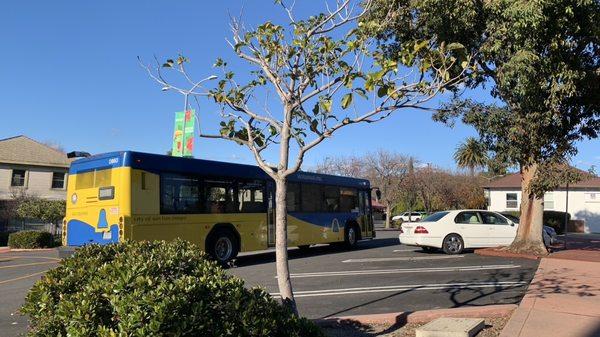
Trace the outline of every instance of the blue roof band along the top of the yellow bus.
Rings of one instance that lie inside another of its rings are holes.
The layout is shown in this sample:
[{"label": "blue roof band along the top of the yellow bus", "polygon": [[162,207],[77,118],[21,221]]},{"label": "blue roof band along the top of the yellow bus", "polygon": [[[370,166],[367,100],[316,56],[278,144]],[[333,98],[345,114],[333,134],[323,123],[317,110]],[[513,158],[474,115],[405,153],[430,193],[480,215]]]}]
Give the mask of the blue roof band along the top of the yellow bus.
[{"label": "blue roof band along the top of the yellow bus", "polygon": [[[135,151],[117,151],[93,155],[71,163],[69,174],[84,173],[98,169],[131,167],[153,173],[192,173],[207,176],[224,176],[250,179],[270,179],[258,166],[234,164],[205,159],[172,157]],[[350,177],[312,172],[297,172],[289,177],[291,182],[339,185],[370,188],[369,181]]]}]

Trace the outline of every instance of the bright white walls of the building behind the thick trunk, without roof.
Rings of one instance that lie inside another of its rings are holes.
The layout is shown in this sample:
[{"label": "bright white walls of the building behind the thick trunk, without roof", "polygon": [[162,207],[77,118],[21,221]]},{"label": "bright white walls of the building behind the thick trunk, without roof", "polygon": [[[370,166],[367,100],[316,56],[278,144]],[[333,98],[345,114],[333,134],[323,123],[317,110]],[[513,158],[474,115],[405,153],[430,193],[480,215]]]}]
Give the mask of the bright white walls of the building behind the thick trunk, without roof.
[{"label": "bright white walls of the building behind the thick trunk, without roof", "polygon": [[[518,208],[507,208],[506,194],[517,194],[517,205],[521,205],[520,190],[490,190],[489,206],[491,211],[518,211]],[[554,205],[545,203],[546,210],[566,211],[567,192],[557,190],[552,192]],[[547,198],[549,199],[549,198]],[[569,190],[568,212],[573,220],[584,220],[585,231],[588,233],[600,233],[600,190]]]}]

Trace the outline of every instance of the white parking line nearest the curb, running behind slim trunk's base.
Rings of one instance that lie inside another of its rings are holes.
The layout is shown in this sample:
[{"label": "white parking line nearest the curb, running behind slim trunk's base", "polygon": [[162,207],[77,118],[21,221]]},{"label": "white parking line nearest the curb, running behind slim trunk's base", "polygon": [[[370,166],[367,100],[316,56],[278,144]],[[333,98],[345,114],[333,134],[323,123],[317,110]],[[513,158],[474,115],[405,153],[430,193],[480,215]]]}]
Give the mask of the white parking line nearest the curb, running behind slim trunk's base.
[{"label": "white parking line nearest the curb, running behind slim trunk's base", "polygon": [[[295,291],[294,297],[315,297],[315,296],[337,296],[350,294],[368,294],[380,292],[399,292],[399,291],[420,291],[420,290],[446,290],[446,289],[479,289],[479,288],[514,288],[526,286],[526,281],[505,281],[505,282],[471,282],[471,283],[438,283],[423,285],[396,285],[382,287],[363,287],[363,288],[345,288],[345,289],[323,289]],[[279,296],[279,293],[271,293],[271,296]]]}]

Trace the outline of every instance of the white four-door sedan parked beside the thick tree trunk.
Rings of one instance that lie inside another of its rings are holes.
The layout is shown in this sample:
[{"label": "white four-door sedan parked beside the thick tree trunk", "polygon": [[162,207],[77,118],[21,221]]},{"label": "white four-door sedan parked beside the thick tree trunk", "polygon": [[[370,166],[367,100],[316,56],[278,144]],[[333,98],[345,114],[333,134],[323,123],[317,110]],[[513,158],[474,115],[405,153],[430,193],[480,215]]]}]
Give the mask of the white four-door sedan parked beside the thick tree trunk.
[{"label": "white four-door sedan parked beside the thick tree trunk", "polygon": [[454,210],[433,213],[420,222],[400,227],[400,243],[441,248],[446,254],[460,254],[465,248],[506,246],[517,234],[518,223],[484,210]]}]

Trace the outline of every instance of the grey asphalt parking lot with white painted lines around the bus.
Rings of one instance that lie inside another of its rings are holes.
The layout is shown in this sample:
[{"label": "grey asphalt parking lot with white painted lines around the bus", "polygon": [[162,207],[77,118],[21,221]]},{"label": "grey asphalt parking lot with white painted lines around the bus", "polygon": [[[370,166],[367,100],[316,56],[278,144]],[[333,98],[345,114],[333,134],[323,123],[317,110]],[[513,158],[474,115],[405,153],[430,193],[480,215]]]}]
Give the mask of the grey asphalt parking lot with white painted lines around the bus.
[{"label": "grey asphalt parking lot with white painted lines around the bus", "polygon": [[[331,246],[290,251],[294,292],[309,318],[518,303],[537,261],[425,253],[398,244],[397,232],[345,251]],[[0,254],[0,336],[26,331],[15,314],[27,290],[58,263],[55,251]],[[230,269],[249,286],[277,295],[274,252],[241,254]]]}]

